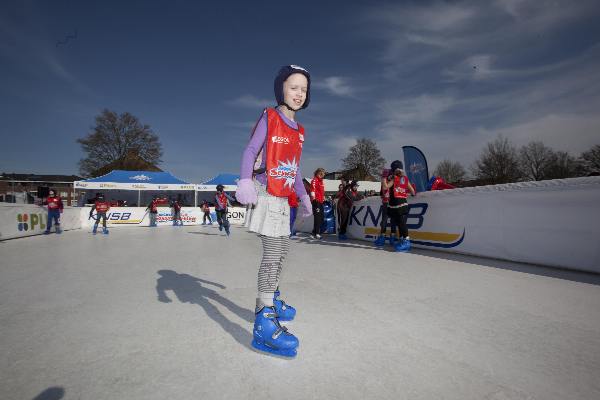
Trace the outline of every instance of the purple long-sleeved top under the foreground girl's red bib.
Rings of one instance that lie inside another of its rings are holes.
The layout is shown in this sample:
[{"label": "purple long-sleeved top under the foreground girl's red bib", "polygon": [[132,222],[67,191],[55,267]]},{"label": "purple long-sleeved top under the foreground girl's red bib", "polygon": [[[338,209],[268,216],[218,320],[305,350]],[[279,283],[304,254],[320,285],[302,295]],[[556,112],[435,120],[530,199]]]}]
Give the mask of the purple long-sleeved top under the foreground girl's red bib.
[{"label": "purple long-sleeved top under the foreground girl's red bib", "polygon": [[[296,121],[292,121],[288,117],[286,117],[282,112],[277,110],[281,119],[288,124],[291,128],[298,129],[298,123]],[[254,162],[256,157],[263,150],[263,157],[261,162],[261,168],[265,167],[266,161],[266,143],[267,143],[267,113],[264,112],[263,115],[258,120],[256,127],[254,128],[254,133],[252,134],[252,138],[250,138],[250,143],[246,146],[244,150],[244,154],[242,155],[242,171],[240,173],[240,179],[251,179],[252,172],[254,171]],[[263,185],[267,184],[267,175],[263,172],[256,176],[256,180],[262,183]],[[304,183],[302,182],[302,174],[300,173],[300,168],[298,168],[298,172],[296,173],[296,180],[294,181],[294,191],[296,192],[296,196],[298,198],[306,195],[306,189],[304,187]]]}]

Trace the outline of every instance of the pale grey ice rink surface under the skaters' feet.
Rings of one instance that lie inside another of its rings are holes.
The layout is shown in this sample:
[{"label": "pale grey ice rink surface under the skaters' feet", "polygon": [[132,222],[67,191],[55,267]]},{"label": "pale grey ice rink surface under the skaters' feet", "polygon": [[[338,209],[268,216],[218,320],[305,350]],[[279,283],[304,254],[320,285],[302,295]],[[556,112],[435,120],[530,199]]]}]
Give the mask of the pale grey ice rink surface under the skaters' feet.
[{"label": "pale grey ice rink surface under the skaters' feet", "polygon": [[0,242],[0,398],[600,399],[598,275],[302,236],[285,360],[250,346],[260,255],[241,227]]}]

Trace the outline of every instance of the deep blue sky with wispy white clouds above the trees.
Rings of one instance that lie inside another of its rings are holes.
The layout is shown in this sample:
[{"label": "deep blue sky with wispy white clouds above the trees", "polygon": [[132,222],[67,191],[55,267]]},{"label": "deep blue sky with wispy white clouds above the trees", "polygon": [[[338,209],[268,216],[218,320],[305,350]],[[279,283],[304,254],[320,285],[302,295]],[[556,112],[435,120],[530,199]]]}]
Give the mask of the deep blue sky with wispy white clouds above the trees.
[{"label": "deep blue sky with wispy white clouds above the trees", "polygon": [[[600,144],[597,1],[3,1],[0,171],[73,174],[104,108],[160,136],[161,167],[239,171],[285,64],[313,76],[302,171],[356,138],[386,160],[468,166],[502,134],[578,155]],[[56,46],[77,30],[77,38]]]}]

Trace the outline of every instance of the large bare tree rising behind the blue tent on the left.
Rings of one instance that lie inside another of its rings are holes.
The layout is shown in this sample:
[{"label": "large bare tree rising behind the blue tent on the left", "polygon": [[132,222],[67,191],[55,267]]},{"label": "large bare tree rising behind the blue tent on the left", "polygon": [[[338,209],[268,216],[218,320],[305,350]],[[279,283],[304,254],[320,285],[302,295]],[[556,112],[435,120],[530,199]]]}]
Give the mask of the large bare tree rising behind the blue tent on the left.
[{"label": "large bare tree rising behind the blue tent on the left", "polygon": [[[79,161],[83,176],[94,176],[108,164],[129,164],[128,158],[139,158],[150,164],[159,164],[162,145],[149,125],[143,125],[137,117],[103,110],[96,116],[96,126],[86,137],[77,139],[86,158]],[[121,168],[124,169],[124,168]]]}]

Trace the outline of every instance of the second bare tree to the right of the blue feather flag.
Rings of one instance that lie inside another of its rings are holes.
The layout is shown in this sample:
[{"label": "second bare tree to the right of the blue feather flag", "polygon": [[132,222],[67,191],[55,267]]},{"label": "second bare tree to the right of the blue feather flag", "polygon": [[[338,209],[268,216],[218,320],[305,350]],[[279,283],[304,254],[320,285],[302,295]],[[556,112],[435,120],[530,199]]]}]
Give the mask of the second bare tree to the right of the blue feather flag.
[{"label": "second bare tree to the right of the blue feather flag", "polygon": [[484,147],[471,171],[477,179],[489,184],[516,182],[521,178],[517,149],[507,138],[499,136]]}]

